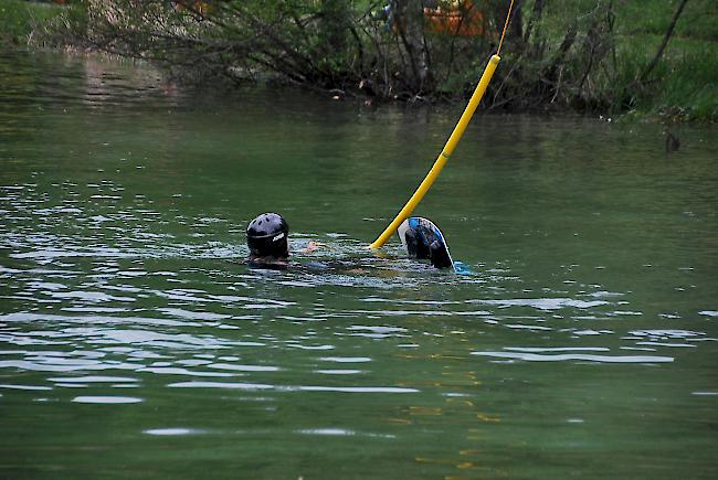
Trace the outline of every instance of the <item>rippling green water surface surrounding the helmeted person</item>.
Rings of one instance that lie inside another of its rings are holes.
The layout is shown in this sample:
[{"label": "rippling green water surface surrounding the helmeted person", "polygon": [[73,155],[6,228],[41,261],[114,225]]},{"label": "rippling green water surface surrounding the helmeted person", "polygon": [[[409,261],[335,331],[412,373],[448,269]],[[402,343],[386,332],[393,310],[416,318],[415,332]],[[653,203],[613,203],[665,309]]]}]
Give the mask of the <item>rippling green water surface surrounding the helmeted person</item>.
[{"label": "rippling green water surface surrounding the helmeted person", "polygon": [[716,128],[360,104],[0,56],[0,478],[716,474]]}]

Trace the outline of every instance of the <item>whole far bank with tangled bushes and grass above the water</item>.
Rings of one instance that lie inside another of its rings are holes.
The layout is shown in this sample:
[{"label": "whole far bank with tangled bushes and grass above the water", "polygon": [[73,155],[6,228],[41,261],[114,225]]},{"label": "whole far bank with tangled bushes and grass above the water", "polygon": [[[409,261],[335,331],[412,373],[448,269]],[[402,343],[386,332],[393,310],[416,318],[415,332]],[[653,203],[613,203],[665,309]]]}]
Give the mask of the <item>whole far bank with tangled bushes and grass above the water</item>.
[{"label": "whole far bank with tangled bushes and grass above the water", "polygon": [[[336,98],[473,92],[508,0],[6,0],[0,43],[145,58],[194,82],[283,81]],[[481,106],[718,121],[718,3],[515,0]]]}]

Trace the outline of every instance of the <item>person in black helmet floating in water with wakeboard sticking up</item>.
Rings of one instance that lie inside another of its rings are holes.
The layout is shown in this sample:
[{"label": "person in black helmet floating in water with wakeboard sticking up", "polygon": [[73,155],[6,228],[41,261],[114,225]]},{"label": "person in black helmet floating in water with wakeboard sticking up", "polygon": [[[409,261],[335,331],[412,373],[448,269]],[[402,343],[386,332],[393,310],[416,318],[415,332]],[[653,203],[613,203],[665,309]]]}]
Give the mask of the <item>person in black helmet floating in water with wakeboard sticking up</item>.
[{"label": "person in black helmet floating in water with wakeboard sticking up", "polygon": [[[411,258],[429,259],[436,268],[451,268],[452,259],[441,233],[433,223],[408,222],[402,230],[406,253]],[[246,244],[250,248],[247,265],[261,268],[283,269],[289,266],[289,225],[277,213],[263,213],[246,227]],[[320,247],[309,242],[300,254],[310,254]]]}]

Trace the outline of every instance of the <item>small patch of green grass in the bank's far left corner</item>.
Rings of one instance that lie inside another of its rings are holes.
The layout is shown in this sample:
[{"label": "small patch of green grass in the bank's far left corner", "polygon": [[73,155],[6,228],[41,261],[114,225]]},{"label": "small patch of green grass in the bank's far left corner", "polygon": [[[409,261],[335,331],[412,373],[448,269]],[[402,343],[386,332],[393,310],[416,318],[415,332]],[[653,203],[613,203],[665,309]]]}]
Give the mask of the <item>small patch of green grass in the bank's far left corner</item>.
[{"label": "small patch of green grass in the bank's far left corner", "polygon": [[53,3],[0,0],[0,46],[28,45],[34,32],[63,10]]}]

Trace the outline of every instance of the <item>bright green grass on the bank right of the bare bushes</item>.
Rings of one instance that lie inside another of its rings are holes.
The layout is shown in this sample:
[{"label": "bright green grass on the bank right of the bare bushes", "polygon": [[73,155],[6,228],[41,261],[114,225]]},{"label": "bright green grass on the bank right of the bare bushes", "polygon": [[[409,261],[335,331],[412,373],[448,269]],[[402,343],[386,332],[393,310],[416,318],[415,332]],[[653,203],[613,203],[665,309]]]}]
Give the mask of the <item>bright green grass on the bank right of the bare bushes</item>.
[{"label": "bright green grass on the bank right of the bare bushes", "polygon": [[[718,121],[718,2],[689,0],[656,67],[637,82],[682,0],[613,1],[615,63],[604,60],[587,85],[606,114],[629,119]],[[534,1],[522,2],[525,18]],[[568,25],[596,8],[595,0],[550,2],[542,19],[558,46]],[[583,41],[577,41],[579,45]],[[610,55],[610,54],[609,54]],[[641,85],[638,85],[638,83]],[[632,98],[626,108],[625,98]]]}]

